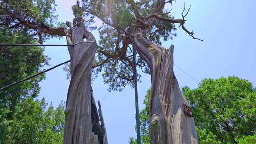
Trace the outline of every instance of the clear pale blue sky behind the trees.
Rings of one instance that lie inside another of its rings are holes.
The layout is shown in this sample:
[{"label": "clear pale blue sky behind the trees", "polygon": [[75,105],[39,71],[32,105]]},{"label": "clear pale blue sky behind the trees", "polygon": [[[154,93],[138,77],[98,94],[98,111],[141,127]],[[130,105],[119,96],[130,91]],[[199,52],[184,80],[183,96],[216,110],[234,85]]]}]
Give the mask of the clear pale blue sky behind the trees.
[{"label": "clear pale blue sky behind the trees", "polygon": [[[71,6],[76,0],[55,0],[60,21],[72,21]],[[256,1],[255,0],[177,0],[173,4],[172,14],[181,18],[183,4],[192,8],[186,17],[185,26],[194,30],[195,36],[203,42],[193,40],[182,29],[174,40],[164,42],[165,47],[174,44],[174,63],[196,80],[219,78],[231,75],[247,79],[256,86]],[[170,8],[170,5],[167,6]],[[93,32],[97,40],[97,32]],[[51,39],[46,44],[65,44],[65,39]],[[69,59],[65,48],[46,48],[45,54],[51,65]],[[47,68],[47,67],[46,67]],[[174,66],[174,72],[180,87],[196,88],[198,83]],[[142,76],[138,83],[139,108],[142,109],[146,90],[150,88],[150,76]],[[101,102],[107,128],[109,144],[128,144],[129,136],[135,133],[134,91],[127,87],[122,92],[107,92],[107,86],[100,75],[93,81],[95,99]],[[62,67],[46,73],[46,79],[40,83],[41,92],[38,99],[45,97],[46,102],[57,106],[66,101],[69,81]]]}]

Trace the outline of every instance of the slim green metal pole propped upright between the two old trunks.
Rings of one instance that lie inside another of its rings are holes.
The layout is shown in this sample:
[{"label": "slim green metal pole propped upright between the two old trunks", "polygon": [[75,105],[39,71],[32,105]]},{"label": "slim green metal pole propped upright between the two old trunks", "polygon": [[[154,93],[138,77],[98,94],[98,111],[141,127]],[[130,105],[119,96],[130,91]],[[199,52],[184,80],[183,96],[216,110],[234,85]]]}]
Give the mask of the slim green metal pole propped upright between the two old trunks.
[{"label": "slim green metal pole propped upright between the two old trunks", "polygon": [[139,122],[139,108],[138,108],[138,88],[137,88],[137,70],[136,70],[136,52],[134,46],[132,47],[133,59],[133,81],[134,81],[134,94],[135,94],[135,116],[136,116],[136,131],[137,131],[137,144],[141,144],[140,138],[140,122]]}]

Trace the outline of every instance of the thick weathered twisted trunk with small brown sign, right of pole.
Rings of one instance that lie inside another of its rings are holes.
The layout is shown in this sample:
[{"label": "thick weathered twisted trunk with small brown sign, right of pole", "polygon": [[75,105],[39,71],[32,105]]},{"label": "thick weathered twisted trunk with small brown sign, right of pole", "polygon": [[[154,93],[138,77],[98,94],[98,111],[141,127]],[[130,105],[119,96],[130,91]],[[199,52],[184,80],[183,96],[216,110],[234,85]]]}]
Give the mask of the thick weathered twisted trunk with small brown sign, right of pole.
[{"label": "thick weathered twisted trunk with small brown sign, right of pole", "polygon": [[133,46],[151,70],[150,135],[152,144],[197,144],[193,117],[184,113],[184,98],[173,72],[173,45],[169,49],[149,40],[148,29],[137,28]]}]

